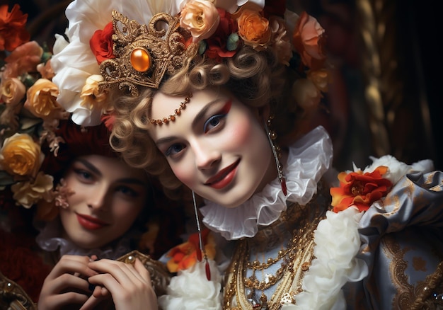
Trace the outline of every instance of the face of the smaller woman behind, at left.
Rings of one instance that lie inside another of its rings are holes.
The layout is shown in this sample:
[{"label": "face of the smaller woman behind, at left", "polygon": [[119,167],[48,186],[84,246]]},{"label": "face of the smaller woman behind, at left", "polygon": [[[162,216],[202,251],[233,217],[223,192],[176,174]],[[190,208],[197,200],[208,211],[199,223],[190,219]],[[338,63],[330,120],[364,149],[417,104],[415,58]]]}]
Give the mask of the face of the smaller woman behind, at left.
[{"label": "face of the smaller woman behind, at left", "polygon": [[74,194],[60,218],[65,237],[81,248],[100,248],[122,236],[146,205],[146,174],[115,158],[81,156],[64,180]]}]

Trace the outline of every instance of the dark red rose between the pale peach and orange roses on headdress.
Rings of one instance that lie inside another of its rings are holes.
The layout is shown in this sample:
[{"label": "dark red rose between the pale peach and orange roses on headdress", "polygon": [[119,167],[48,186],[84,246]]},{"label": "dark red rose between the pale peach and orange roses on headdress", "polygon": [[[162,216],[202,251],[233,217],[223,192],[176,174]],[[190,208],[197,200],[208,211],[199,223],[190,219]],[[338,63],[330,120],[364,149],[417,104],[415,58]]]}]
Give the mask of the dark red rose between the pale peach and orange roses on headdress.
[{"label": "dark red rose between the pale peach and orange roses on headdress", "polygon": [[237,23],[231,18],[231,13],[222,8],[217,8],[217,11],[220,14],[219,26],[214,35],[206,40],[208,45],[206,54],[209,58],[221,61],[222,58],[233,57],[236,54],[236,50],[227,50],[226,40],[231,33],[236,33]]}]

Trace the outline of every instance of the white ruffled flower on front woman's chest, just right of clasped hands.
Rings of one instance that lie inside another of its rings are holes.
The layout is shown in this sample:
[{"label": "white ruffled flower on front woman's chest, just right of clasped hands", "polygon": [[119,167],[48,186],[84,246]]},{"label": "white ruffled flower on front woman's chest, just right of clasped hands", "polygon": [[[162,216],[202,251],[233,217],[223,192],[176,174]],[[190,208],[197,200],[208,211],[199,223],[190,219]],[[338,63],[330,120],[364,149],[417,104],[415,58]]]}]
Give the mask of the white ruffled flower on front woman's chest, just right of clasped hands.
[{"label": "white ruffled flower on front woman's chest, just right of clasped hands", "polygon": [[208,260],[211,280],[205,272],[205,260],[171,279],[168,294],[159,297],[162,309],[218,310],[222,309],[222,276],[214,260]]}]

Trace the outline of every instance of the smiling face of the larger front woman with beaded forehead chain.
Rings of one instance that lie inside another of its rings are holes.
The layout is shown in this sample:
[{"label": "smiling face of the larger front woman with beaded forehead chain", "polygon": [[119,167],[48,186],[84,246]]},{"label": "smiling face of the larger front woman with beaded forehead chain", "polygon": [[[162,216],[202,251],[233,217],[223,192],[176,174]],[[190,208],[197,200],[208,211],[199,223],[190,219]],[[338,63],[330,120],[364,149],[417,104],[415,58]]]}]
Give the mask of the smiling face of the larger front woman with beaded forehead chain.
[{"label": "smiling face of the larger front woman with beaded forehead chain", "polygon": [[[171,115],[183,98],[156,93],[150,117]],[[177,178],[197,195],[237,207],[277,176],[258,113],[226,91],[192,93],[167,125],[149,129]]]}]

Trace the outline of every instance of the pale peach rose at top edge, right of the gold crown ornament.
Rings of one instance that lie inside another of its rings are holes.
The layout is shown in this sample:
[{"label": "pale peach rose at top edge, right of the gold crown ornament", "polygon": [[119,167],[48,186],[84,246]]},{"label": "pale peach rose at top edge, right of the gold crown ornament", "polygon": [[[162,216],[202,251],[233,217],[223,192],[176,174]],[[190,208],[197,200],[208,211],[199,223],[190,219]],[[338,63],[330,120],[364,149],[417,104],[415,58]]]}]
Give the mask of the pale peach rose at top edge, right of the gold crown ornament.
[{"label": "pale peach rose at top edge, right of the gold crown ornament", "polygon": [[213,35],[219,22],[219,11],[212,1],[208,0],[190,0],[180,13],[180,26],[191,33],[193,42]]}]

